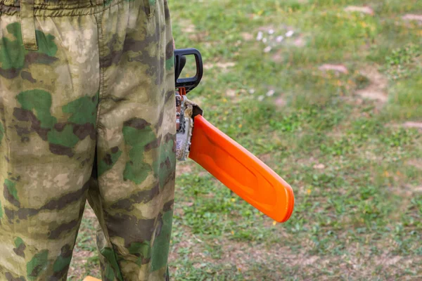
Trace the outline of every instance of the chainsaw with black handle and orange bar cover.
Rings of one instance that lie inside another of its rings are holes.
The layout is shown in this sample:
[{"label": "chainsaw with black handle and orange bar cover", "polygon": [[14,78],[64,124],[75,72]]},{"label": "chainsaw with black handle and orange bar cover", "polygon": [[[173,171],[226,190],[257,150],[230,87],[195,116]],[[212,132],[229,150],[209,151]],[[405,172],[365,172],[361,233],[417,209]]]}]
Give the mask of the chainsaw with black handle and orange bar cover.
[{"label": "chainsaw with black handle and orange bar cover", "polygon": [[[179,78],[186,56],[193,55],[196,74]],[[285,222],[293,213],[293,190],[279,175],[248,150],[213,126],[203,110],[187,98],[203,77],[203,61],[195,48],[174,51],[177,145],[179,161],[188,158],[203,166],[221,183],[274,221]]]}]

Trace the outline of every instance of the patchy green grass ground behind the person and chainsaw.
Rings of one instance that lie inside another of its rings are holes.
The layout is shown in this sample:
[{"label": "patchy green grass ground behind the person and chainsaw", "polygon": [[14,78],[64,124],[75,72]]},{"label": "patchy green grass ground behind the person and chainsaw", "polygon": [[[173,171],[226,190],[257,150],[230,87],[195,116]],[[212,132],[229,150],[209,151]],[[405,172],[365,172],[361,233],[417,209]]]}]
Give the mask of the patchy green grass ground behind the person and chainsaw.
[{"label": "patchy green grass ground behind the person and chainsaw", "polygon": [[[351,5],[374,15],[344,11]],[[179,163],[173,280],[421,279],[422,133],[404,124],[422,122],[422,22],[402,19],[422,14],[420,1],[170,1],[170,8],[177,47],[198,48],[210,66],[190,98],[295,191],[290,221],[274,224],[200,166]],[[267,43],[255,39],[260,31]],[[348,71],[319,70],[324,64]],[[89,225],[78,249],[94,249]],[[81,275],[98,260],[88,264]]]}]

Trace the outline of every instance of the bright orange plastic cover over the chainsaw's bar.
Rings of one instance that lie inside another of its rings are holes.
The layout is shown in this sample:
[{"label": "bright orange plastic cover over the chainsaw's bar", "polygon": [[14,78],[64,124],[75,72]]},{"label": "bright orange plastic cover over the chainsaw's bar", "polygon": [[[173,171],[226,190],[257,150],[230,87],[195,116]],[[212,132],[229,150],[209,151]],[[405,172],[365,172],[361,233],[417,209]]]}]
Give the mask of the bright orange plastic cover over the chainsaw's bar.
[{"label": "bright orange plastic cover over the chainsaw's bar", "polygon": [[264,162],[197,115],[189,157],[243,200],[274,221],[287,221],[293,212],[293,190]]}]

